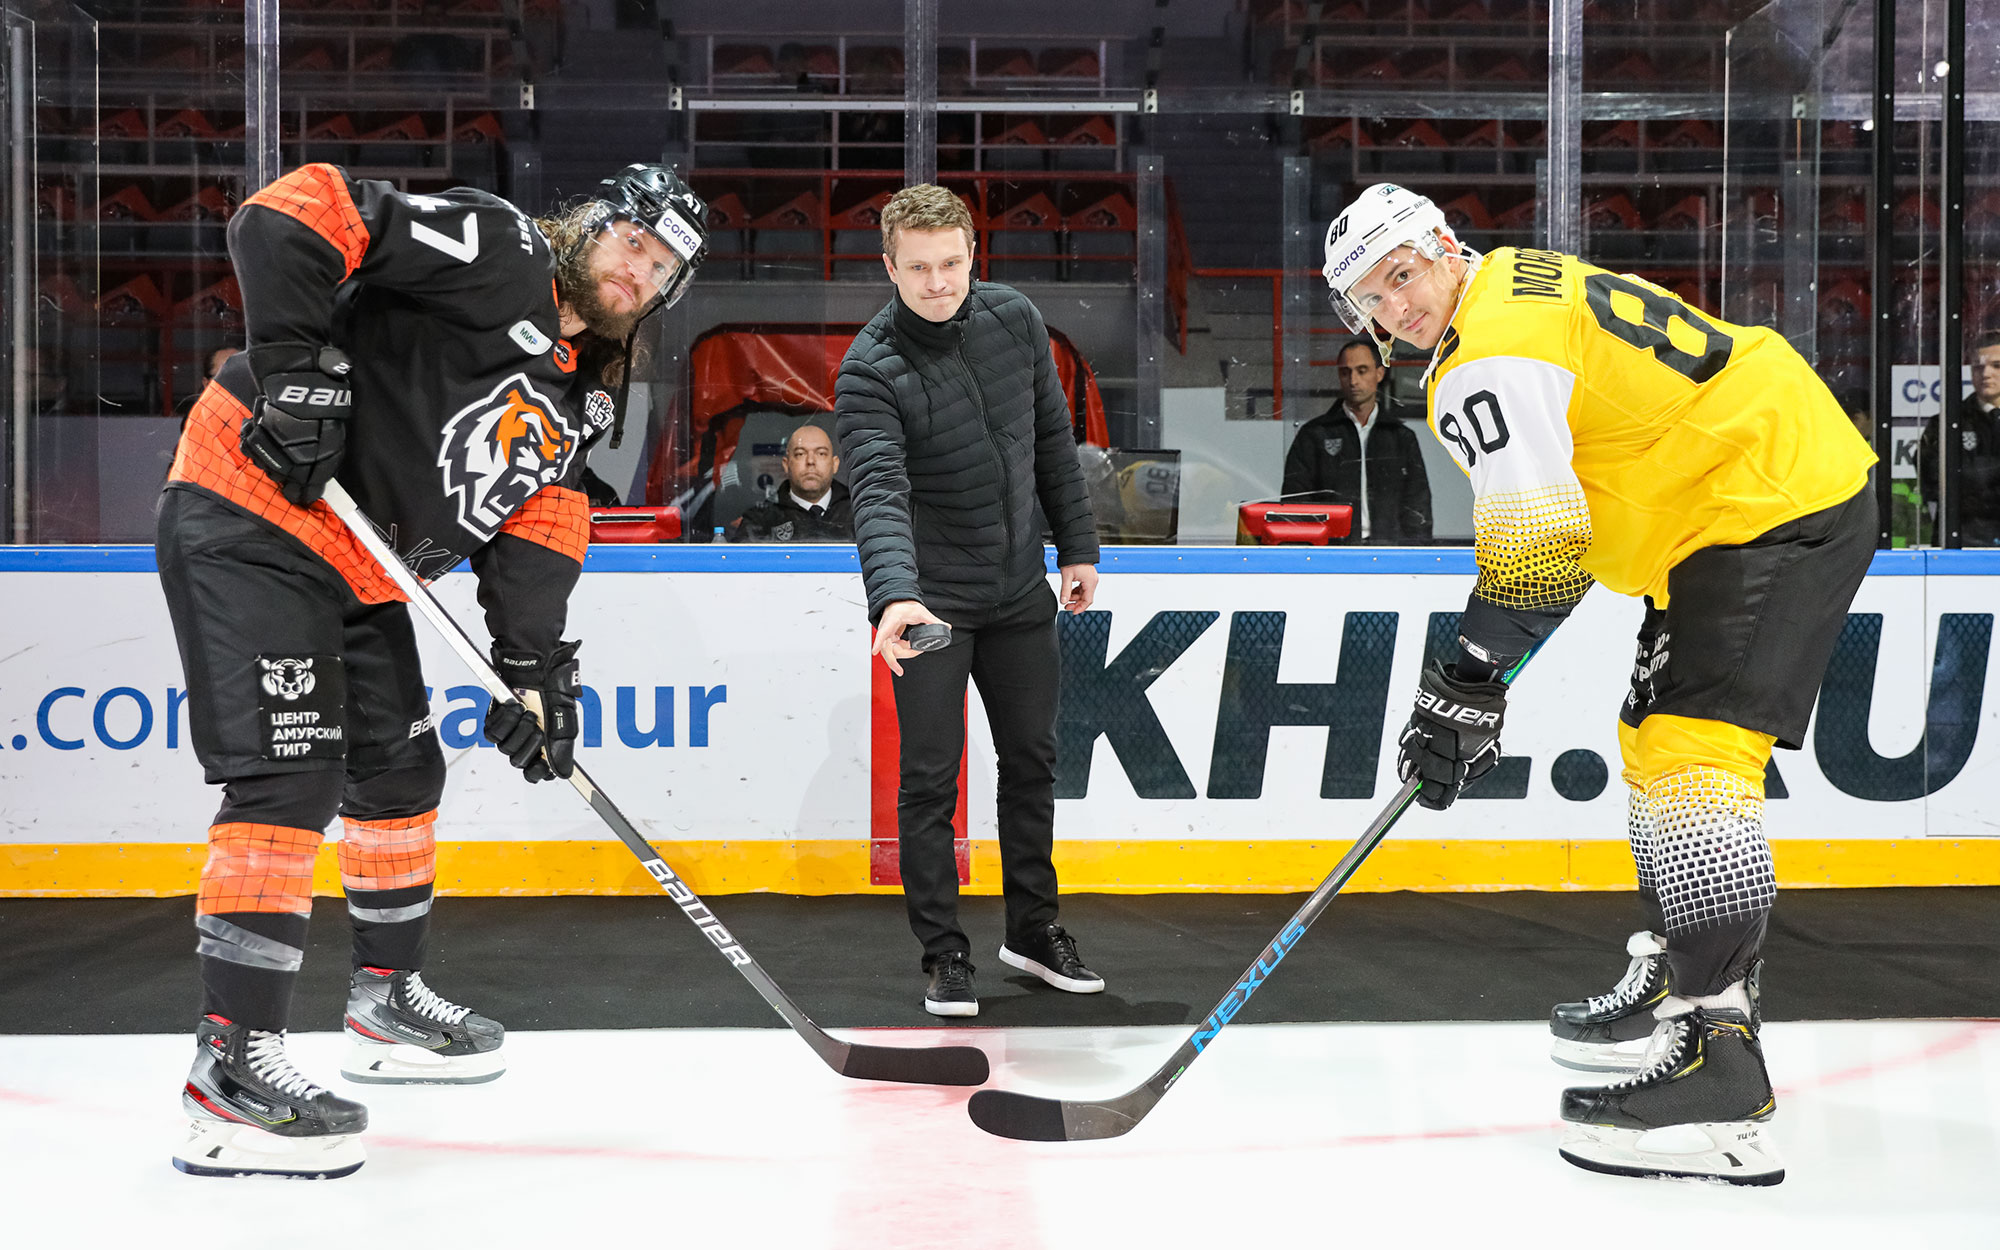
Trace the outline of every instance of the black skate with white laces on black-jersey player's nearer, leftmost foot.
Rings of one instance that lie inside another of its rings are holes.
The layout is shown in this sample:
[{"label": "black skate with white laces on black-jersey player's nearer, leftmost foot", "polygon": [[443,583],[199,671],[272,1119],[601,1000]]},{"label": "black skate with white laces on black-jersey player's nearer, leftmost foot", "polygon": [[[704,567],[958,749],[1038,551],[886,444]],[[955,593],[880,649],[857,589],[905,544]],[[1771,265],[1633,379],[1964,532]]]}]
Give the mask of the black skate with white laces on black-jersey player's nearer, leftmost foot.
[{"label": "black skate with white laces on black-jersey player's nearer, leftmost foot", "polygon": [[368,1158],[368,1108],[300,1076],[278,1032],[202,1016],[180,1100],[192,1122],[174,1166],[190,1176],[330,1180]]}]

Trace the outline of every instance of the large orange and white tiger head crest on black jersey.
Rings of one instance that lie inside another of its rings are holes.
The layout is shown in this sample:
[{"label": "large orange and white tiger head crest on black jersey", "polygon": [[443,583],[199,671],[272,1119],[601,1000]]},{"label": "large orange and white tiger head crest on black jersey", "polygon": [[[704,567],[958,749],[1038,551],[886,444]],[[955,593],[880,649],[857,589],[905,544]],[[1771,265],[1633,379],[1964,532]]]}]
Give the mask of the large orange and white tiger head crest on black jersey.
[{"label": "large orange and white tiger head crest on black jersey", "polygon": [[528,496],[562,480],[580,430],[526,374],[514,374],[484,400],[444,424],[438,468],[456,496],[458,524],[492,538]]}]

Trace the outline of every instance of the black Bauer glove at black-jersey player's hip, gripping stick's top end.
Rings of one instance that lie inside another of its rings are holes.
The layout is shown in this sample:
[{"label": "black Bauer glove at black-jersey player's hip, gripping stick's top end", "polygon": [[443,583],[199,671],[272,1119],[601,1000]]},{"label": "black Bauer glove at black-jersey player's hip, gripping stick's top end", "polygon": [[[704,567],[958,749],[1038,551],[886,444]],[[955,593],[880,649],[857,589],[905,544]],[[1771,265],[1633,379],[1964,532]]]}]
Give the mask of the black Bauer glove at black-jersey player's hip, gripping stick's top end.
[{"label": "black Bauer glove at black-jersey player's hip, gripping stick's top end", "polygon": [[340,348],[250,348],[258,396],[242,450],[300,508],[320,498],[348,450],[348,368]]}]

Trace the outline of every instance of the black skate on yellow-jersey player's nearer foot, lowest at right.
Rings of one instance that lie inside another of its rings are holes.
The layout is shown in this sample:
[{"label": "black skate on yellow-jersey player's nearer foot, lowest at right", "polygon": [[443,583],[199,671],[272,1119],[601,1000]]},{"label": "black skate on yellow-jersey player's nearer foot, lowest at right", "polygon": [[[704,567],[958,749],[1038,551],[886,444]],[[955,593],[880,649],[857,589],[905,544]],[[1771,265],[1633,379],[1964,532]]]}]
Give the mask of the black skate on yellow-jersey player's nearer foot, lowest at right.
[{"label": "black skate on yellow-jersey player's nearer foot, lowest at right", "polygon": [[1736,1008],[1662,1020],[1628,1080],[1562,1092],[1562,1158],[1590,1172],[1778,1184],[1764,1048]]}]

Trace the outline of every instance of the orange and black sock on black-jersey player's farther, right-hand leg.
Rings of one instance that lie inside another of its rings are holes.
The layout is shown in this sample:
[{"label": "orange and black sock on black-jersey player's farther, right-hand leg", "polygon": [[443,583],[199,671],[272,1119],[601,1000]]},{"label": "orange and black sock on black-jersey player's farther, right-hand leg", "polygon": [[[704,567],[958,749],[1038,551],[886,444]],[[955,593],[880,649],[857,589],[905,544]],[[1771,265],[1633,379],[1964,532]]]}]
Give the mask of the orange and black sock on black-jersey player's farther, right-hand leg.
[{"label": "orange and black sock on black-jersey player's farther, right-hand leg", "polygon": [[342,818],[340,884],[354,922],[356,968],[422,968],[438,880],[438,812]]}]

